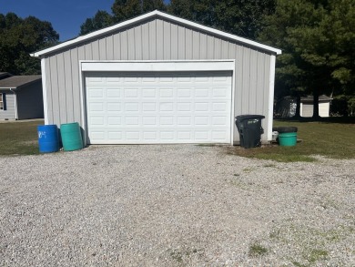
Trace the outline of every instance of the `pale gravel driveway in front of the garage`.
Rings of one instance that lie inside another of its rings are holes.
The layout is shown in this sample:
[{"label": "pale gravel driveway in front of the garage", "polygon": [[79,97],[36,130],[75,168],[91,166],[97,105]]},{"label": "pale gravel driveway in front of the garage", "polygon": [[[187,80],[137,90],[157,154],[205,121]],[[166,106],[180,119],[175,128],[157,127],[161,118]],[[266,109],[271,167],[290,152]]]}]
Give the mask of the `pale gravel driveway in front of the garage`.
[{"label": "pale gravel driveway in front of the garage", "polygon": [[355,160],[228,149],[0,158],[0,266],[355,266]]}]

